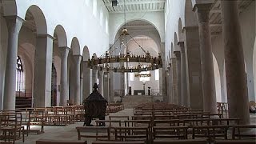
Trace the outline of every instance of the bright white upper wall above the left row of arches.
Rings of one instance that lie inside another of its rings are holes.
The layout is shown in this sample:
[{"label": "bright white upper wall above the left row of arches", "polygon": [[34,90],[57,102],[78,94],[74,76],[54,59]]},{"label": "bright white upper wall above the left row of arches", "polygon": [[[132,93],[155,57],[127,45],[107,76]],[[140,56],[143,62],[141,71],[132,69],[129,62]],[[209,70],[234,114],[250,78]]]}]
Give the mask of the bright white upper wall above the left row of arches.
[{"label": "bright white upper wall above the left row of arches", "polygon": [[[25,18],[26,10],[32,5],[38,6],[47,23],[47,33],[54,35],[54,29],[62,25],[66,30],[67,46],[71,45],[72,38],[77,37],[80,44],[80,54],[83,46],[88,46],[90,53],[102,54],[108,45],[109,34],[106,34],[105,21],[100,26],[99,10],[102,7],[103,17],[108,18],[106,7],[101,0],[97,0],[97,14],[92,14],[92,5],[86,5],[84,0],[16,0],[17,14]],[[90,2],[89,2],[90,3]],[[6,10],[6,11],[11,11]],[[6,13],[8,15],[8,13]]]}]

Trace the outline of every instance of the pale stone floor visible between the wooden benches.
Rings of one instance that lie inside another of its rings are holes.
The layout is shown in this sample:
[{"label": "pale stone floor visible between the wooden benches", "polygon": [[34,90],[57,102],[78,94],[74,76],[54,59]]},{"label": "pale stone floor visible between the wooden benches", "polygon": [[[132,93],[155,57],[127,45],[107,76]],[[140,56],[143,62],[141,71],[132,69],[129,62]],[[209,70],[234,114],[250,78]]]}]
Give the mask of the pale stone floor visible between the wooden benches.
[{"label": "pale stone floor visible between the wooden benches", "polygon": [[[133,115],[133,113],[134,113],[133,109],[126,109],[110,115]],[[256,124],[256,114],[250,114],[250,122],[251,124]],[[77,134],[77,131],[75,130],[75,127],[82,126],[82,125],[83,125],[83,122],[77,122],[69,126],[45,126],[44,134],[29,134],[29,136],[25,136],[24,143],[22,142],[22,140],[18,140],[15,143],[35,144],[35,141],[37,141],[40,138],[77,141],[78,134]],[[94,138],[90,138],[90,139],[82,138],[82,141],[87,141],[88,143],[91,143],[92,141],[94,141]]]}]

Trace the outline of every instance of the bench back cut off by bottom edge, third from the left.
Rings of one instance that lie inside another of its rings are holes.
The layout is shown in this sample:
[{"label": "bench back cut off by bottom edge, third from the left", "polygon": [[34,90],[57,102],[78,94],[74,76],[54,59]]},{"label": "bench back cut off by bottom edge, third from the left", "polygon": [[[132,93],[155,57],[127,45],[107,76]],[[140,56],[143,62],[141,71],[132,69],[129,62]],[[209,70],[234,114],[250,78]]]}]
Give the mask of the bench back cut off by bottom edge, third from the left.
[{"label": "bench back cut off by bottom edge, third from the left", "polygon": [[179,140],[162,140],[154,139],[153,144],[207,144],[205,139],[179,139]]}]

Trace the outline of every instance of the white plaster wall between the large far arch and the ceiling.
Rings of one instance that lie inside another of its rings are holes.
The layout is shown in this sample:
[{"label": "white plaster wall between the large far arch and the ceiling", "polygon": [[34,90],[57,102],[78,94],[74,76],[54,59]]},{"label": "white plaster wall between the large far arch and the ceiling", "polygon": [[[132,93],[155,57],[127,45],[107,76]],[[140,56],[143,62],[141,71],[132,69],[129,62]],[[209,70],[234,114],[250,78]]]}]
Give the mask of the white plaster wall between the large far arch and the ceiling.
[{"label": "white plaster wall between the large far arch and the ceiling", "polygon": [[[144,20],[152,24],[158,30],[161,42],[165,41],[164,18],[164,12],[143,12],[126,14],[126,22],[134,20]],[[114,43],[114,38],[118,30],[122,25],[124,25],[124,23],[124,14],[110,14],[110,43]]]}]

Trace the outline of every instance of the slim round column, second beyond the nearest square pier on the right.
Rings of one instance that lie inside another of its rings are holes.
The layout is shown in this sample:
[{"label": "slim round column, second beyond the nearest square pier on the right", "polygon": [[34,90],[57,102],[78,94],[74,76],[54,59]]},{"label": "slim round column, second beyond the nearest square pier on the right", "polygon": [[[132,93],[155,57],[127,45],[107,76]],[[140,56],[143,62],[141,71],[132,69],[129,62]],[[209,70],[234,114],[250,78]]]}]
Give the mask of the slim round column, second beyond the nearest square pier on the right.
[{"label": "slim round column, second beyond the nearest square pier on the right", "polygon": [[181,95],[181,53],[180,51],[174,51],[176,57],[176,74],[177,74],[177,97],[178,105],[182,105],[182,95]]}]

